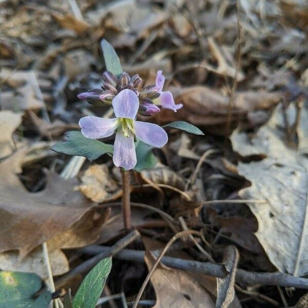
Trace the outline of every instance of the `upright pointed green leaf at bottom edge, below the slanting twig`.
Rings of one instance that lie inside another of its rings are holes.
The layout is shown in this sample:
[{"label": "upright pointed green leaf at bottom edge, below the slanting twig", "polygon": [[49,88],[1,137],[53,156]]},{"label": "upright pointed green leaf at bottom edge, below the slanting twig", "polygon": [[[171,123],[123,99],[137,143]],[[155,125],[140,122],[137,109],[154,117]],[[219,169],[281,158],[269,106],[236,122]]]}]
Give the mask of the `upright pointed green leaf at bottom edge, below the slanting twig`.
[{"label": "upright pointed green leaf at bottom edge, below the slanting twig", "polygon": [[111,258],[95,265],[81,283],[73,298],[73,308],[94,308],[111,270]]}]

